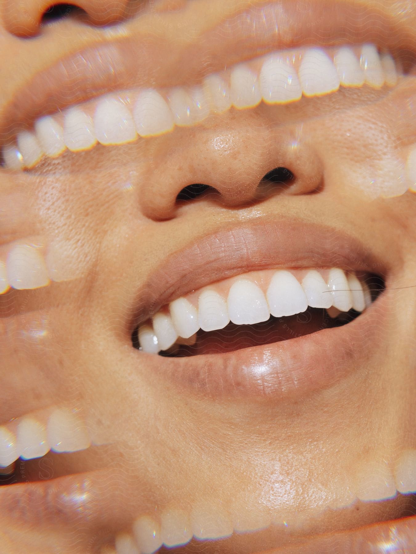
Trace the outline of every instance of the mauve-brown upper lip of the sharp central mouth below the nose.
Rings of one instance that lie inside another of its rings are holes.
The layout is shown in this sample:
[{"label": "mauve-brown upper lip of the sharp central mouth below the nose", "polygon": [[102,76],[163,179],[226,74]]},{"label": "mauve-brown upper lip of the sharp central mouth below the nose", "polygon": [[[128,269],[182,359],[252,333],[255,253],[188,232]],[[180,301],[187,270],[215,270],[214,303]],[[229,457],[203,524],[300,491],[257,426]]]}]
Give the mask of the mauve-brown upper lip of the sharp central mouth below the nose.
[{"label": "mauve-brown upper lip of the sharp central mouth below the nose", "polygon": [[282,215],[227,225],[163,260],[138,290],[129,329],[177,297],[233,275],[333,266],[377,274],[384,280],[390,270],[360,240],[327,225]]}]

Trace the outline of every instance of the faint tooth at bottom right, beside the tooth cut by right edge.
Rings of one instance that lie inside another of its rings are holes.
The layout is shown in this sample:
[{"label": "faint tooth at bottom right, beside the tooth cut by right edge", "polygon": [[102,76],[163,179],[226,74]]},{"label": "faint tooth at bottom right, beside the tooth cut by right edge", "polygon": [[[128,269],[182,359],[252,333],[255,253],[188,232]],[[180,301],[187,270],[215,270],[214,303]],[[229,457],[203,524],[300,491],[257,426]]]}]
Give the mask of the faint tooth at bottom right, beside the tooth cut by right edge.
[{"label": "faint tooth at bottom right, beside the tooth cut by right edge", "polygon": [[393,496],[396,496],[396,485],[386,463],[368,464],[357,475],[358,500],[383,500]]}]

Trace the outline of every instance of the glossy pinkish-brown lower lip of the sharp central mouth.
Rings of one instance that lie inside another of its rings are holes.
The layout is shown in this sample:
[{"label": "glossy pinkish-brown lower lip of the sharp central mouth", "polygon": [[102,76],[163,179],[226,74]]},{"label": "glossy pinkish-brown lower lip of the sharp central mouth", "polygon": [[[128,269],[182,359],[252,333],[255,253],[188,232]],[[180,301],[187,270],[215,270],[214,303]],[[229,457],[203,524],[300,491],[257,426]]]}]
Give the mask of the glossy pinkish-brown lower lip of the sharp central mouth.
[{"label": "glossy pinkish-brown lower lip of the sharp central mouth", "polygon": [[137,351],[137,363],[146,356],[155,375],[209,398],[299,399],[363,367],[383,341],[389,304],[386,290],[342,327],[221,354],[167,358]]}]

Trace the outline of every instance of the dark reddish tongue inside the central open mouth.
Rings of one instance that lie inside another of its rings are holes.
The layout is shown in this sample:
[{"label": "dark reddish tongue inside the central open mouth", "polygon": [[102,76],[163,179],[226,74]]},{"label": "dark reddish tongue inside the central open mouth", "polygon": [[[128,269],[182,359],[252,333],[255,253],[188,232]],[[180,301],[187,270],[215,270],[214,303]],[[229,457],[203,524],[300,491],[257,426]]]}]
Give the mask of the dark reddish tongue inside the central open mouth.
[{"label": "dark reddish tongue inside the central open mouth", "polygon": [[[235,325],[230,323],[218,331],[198,331],[197,342],[187,347],[185,355],[218,354],[285,341],[290,338],[310,335],[315,331],[335,327],[325,310],[309,308],[302,314],[289,317],[273,317],[255,325]],[[184,350],[184,349],[183,349]]]}]

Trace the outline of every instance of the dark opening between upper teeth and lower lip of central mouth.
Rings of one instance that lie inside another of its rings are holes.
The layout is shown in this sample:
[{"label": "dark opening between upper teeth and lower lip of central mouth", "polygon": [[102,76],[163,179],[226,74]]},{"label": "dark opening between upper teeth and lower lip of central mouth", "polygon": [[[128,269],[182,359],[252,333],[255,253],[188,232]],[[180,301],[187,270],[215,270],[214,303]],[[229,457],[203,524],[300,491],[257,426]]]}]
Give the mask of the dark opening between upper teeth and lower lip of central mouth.
[{"label": "dark opening between upper teeth and lower lip of central mouth", "polygon": [[[372,301],[375,301],[377,296],[384,290],[384,281],[381,277],[371,275],[366,279],[366,283],[371,291]],[[224,329],[217,331],[203,331],[199,329],[194,345],[175,345],[167,351],[159,352],[159,355],[166,357],[187,357],[231,352],[242,348],[266,345],[310,335],[322,329],[340,327],[347,325],[359,316],[360,312],[351,309],[348,312],[341,312],[337,317],[332,318],[324,309],[308,307],[301,314],[287,317],[270,316],[267,321],[254,325],[235,325],[230,322]],[[140,348],[137,329],[132,334],[132,344],[133,347]]]}]

